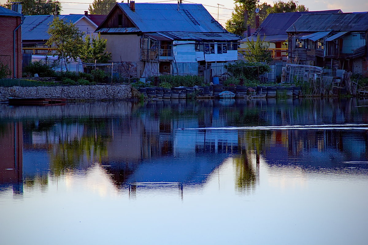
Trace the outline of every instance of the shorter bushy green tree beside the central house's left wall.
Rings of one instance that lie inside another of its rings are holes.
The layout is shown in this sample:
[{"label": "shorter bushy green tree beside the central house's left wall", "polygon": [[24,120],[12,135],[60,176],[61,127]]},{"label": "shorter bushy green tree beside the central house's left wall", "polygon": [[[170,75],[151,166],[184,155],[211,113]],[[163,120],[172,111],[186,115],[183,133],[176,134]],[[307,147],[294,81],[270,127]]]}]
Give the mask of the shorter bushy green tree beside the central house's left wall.
[{"label": "shorter bushy green tree beside the central house's left wall", "polygon": [[111,53],[106,52],[107,40],[100,33],[95,37],[87,35],[82,48],[81,60],[84,62],[106,63],[111,59]]}]

